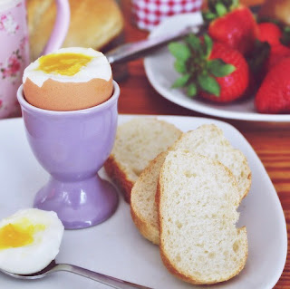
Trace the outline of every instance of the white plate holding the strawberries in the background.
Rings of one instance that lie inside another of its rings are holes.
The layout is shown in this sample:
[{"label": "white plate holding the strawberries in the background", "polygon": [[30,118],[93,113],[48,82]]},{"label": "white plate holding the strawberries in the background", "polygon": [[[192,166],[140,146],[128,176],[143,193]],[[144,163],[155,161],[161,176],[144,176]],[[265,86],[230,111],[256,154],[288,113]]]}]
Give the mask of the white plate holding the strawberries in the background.
[{"label": "white plate holding the strawberries in the background", "polygon": [[[150,37],[178,32],[188,25],[201,24],[200,13],[179,14],[167,18],[159,26],[154,28]],[[256,121],[290,121],[290,114],[262,114],[257,113],[254,106],[254,97],[245,101],[232,104],[218,104],[204,101],[199,98],[190,99],[180,89],[171,89],[171,85],[180,74],[175,72],[174,57],[164,47],[159,52],[153,53],[144,60],[145,72],[153,86],[163,97],[192,111],[198,111],[208,115],[233,119],[233,120],[256,120]]]}]

